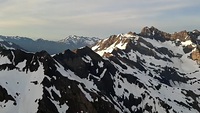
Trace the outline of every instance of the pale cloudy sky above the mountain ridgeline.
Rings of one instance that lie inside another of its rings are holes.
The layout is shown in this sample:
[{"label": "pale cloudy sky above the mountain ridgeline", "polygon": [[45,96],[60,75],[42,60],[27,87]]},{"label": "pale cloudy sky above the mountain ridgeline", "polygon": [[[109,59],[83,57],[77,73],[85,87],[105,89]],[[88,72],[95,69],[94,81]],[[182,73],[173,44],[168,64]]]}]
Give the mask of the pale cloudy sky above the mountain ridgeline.
[{"label": "pale cloudy sky above the mountain ridgeline", "polygon": [[106,38],[154,26],[200,30],[200,0],[0,0],[0,35]]}]

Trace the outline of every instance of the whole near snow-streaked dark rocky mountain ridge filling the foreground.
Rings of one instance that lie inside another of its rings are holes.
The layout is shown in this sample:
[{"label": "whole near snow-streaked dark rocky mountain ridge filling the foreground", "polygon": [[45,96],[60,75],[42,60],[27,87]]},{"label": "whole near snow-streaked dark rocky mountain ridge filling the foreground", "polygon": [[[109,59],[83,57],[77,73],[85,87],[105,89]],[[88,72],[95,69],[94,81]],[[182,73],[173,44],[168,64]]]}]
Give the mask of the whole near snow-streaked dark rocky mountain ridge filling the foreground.
[{"label": "whole near snow-streaked dark rocky mountain ridge filling the foreground", "polygon": [[198,32],[154,27],[49,55],[0,50],[1,113],[198,113]]}]

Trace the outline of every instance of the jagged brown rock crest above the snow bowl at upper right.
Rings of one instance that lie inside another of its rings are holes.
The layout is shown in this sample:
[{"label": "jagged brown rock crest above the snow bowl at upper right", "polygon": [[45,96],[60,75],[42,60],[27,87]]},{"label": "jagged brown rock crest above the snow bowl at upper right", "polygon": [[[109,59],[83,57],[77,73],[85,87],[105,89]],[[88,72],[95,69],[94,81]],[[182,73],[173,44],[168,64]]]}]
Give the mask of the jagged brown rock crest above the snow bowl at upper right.
[{"label": "jagged brown rock crest above the snow bowl at upper right", "polygon": [[[146,37],[146,38],[151,38],[155,39],[161,42],[165,41],[172,41],[173,43],[176,43],[177,46],[180,45],[180,43],[184,43],[186,41],[191,41],[193,44],[189,45],[182,45],[183,46],[183,51],[184,53],[191,53],[191,58],[197,62],[198,61],[198,55],[199,53],[199,44],[200,41],[198,37],[200,36],[200,32],[198,30],[194,30],[192,32],[188,32],[186,30],[180,31],[180,32],[175,32],[173,34],[169,34],[163,31],[158,30],[155,27],[144,27],[139,34],[140,36]],[[195,52],[192,52],[192,50],[197,49]]]}]

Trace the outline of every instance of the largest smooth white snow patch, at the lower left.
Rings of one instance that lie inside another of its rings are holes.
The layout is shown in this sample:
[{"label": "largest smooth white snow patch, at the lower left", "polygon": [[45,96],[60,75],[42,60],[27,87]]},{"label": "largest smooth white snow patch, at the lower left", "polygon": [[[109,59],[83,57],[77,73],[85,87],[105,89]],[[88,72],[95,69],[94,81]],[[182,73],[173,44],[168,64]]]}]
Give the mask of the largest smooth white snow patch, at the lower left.
[{"label": "largest smooth white snow patch, at the lower left", "polygon": [[[18,70],[2,70],[0,73],[0,85],[6,88],[8,94],[16,100],[16,106],[9,101],[6,103],[6,107],[0,109],[0,112],[37,112],[38,100],[42,99],[43,95],[43,85],[40,84],[45,76],[43,67],[40,66],[36,72],[29,72],[29,76]],[[38,84],[33,84],[33,81],[37,81]]]}]

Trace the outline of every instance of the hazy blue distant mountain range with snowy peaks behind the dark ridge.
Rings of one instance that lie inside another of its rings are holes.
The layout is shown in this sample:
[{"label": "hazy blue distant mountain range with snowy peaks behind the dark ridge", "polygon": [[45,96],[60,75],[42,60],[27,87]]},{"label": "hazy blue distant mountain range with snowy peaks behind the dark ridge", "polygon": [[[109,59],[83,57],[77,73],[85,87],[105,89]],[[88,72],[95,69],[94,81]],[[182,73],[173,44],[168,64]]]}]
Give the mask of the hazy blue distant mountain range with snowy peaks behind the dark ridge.
[{"label": "hazy blue distant mountain range with snowy peaks behind the dark ridge", "polygon": [[82,36],[69,36],[60,41],[49,41],[44,39],[33,40],[31,38],[19,36],[0,36],[0,39],[19,45],[29,52],[45,50],[49,54],[56,54],[66,49],[73,50],[84,46],[91,46],[99,40],[98,38]]}]

